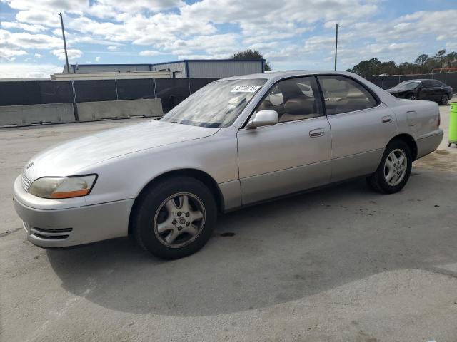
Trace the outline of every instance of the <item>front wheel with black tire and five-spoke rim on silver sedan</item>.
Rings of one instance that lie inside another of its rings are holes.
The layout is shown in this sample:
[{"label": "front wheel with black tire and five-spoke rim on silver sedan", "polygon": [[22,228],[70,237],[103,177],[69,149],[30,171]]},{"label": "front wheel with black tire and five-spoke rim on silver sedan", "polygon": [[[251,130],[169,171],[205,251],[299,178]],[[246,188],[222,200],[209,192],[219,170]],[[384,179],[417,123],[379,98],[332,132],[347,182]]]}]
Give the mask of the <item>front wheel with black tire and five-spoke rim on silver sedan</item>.
[{"label": "front wheel with black tire and five-spoke rim on silver sedan", "polygon": [[173,177],[141,194],[132,214],[132,232],[143,249],[162,259],[179,259],[208,242],[217,206],[214,195],[199,180]]}]

